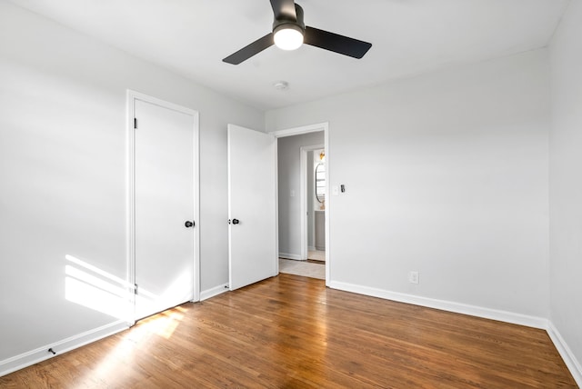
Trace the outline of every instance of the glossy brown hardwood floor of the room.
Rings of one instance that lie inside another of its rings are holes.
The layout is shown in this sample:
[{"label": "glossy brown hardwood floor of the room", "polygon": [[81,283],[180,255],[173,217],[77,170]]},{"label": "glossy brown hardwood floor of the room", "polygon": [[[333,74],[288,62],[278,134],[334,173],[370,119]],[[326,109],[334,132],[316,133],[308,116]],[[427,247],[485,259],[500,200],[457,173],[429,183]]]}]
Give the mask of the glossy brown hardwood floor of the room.
[{"label": "glossy brown hardwood floor of the room", "polygon": [[577,385],[545,331],[280,274],[0,377],[0,387]]}]

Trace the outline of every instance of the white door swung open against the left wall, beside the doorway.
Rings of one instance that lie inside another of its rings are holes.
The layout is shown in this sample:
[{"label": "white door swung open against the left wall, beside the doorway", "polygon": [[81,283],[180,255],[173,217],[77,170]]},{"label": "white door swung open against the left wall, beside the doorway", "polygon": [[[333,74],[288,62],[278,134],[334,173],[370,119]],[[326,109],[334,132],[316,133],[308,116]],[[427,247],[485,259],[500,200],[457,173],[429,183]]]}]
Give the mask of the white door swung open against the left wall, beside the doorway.
[{"label": "white door swung open against the left wall, beside the doorway", "polygon": [[228,217],[230,289],[276,275],[275,136],[228,125]]}]

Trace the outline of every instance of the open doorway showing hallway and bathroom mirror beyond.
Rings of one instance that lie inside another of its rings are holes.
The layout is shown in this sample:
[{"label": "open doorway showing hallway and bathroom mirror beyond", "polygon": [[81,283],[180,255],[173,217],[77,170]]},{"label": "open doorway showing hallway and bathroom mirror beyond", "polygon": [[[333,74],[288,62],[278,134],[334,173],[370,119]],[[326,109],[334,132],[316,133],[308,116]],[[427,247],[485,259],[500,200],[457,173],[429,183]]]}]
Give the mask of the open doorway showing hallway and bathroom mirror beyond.
[{"label": "open doorway showing hallway and bathroom mirror beyond", "polygon": [[279,271],[328,280],[326,130],[310,125],[275,135]]}]

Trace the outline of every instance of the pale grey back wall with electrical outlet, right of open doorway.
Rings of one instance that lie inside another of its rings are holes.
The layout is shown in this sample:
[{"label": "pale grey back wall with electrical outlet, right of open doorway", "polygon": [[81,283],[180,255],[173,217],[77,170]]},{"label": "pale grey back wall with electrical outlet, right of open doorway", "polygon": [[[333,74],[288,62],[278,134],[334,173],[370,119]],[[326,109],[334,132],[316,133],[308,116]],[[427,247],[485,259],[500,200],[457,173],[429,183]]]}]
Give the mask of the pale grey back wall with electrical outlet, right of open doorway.
[{"label": "pale grey back wall with electrical outlet, right of open doorway", "polygon": [[267,131],[329,122],[331,284],[542,325],[548,98],[538,50],[267,112]]}]

